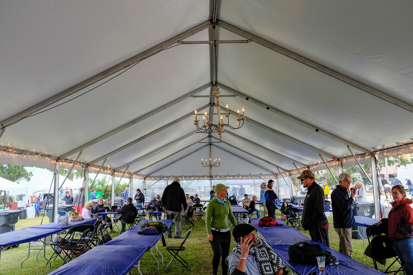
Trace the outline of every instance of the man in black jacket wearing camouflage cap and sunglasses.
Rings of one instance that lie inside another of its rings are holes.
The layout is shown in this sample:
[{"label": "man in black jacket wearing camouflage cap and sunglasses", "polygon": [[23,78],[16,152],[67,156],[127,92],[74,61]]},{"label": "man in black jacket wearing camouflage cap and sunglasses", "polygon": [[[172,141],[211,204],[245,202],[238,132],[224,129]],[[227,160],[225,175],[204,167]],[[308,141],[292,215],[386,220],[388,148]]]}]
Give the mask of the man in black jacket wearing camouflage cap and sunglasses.
[{"label": "man in black jacket wearing camouflage cap and sunglasses", "polygon": [[300,179],[304,188],[308,190],[304,199],[301,225],[304,230],[309,230],[311,239],[329,247],[328,220],[324,214],[323,188],[316,183],[314,173],[310,170],[304,170],[297,179]]}]

